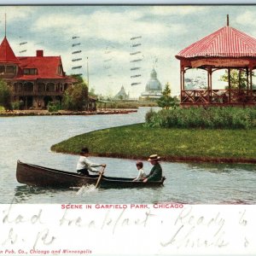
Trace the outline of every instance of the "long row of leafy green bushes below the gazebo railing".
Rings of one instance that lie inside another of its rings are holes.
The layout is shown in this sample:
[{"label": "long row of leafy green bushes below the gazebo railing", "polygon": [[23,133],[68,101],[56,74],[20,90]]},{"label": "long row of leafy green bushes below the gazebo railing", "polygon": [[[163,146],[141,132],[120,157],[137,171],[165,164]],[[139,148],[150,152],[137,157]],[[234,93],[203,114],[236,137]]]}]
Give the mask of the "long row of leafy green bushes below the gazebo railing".
[{"label": "long row of leafy green bushes below the gazebo railing", "polygon": [[256,108],[172,108],[146,113],[146,125],[163,128],[228,128],[256,127]]}]

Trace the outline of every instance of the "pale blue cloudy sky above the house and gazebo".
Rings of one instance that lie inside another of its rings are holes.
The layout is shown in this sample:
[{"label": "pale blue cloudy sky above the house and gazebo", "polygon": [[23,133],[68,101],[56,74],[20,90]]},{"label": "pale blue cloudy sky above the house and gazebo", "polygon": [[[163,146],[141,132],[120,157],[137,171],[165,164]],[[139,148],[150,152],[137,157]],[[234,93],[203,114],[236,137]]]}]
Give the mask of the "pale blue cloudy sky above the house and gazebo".
[{"label": "pale blue cloudy sky above the house and gazebo", "polygon": [[[82,73],[84,80],[89,77],[89,88],[102,96],[115,96],[124,86],[131,98],[137,98],[153,68],[163,88],[169,83],[172,95],[178,95],[175,55],[226,26],[226,15],[230,26],[256,38],[256,5],[1,6],[0,40],[5,14],[7,38],[16,56],[36,55],[37,49],[44,55],[61,55],[64,71]],[[213,76],[213,86],[219,89],[224,86],[221,74]],[[193,70],[186,78],[198,75],[206,73]]]}]

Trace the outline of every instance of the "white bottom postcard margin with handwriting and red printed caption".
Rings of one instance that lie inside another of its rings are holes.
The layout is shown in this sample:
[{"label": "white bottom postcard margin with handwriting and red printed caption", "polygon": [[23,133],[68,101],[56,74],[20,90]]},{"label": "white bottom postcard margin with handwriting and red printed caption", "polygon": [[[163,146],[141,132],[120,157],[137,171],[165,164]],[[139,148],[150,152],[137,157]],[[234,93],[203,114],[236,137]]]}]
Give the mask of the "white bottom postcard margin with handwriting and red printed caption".
[{"label": "white bottom postcard margin with handwriting and red printed caption", "polygon": [[255,255],[256,206],[0,206],[0,255]]}]

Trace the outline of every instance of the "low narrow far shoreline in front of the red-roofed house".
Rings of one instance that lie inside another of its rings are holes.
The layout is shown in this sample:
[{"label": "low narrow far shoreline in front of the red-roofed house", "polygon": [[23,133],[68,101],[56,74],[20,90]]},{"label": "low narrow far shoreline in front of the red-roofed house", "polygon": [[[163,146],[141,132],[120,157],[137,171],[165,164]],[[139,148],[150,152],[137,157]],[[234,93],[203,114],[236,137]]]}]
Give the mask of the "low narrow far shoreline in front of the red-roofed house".
[{"label": "low narrow far shoreline in front of the red-roofed house", "polygon": [[49,112],[47,110],[14,110],[11,112],[0,112],[0,117],[15,117],[15,116],[50,116],[50,115],[94,115],[94,114],[122,114],[134,113],[137,109],[110,109],[97,111],[64,111]]}]

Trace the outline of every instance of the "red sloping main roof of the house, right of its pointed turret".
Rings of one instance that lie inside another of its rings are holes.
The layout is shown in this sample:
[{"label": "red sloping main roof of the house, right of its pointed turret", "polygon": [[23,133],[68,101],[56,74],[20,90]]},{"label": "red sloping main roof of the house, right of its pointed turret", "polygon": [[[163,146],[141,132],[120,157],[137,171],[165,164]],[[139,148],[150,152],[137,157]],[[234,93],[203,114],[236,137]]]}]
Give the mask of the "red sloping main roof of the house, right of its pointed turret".
[{"label": "red sloping main roof of the house, right of its pointed turret", "polygon": [[37,74],[23,74],[19,70],[16,79],[65,79],[66,76],[58,73],[58,67],[61,66],[61,56],[29,56],[18,57],[20,68],[37,68]]}]

